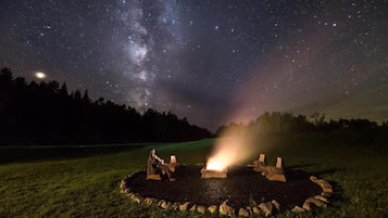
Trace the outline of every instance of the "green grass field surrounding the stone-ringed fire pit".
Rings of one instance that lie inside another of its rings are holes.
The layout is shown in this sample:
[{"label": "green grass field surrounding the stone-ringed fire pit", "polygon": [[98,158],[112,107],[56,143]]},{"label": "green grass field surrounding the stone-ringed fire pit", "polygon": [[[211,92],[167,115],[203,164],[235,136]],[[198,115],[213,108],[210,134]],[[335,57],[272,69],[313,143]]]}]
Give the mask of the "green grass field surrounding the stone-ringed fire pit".
[{"label": "green grass field surrounding the stone-ringed fire pit", "polygon": [[[180,163],[196,164],[205,162],[214,141],[154,146],[160,156],[175,154]],[[149,148],[0,148],[0,217],[209,217],[132,203],[120,193],[121,180],[146,167]],[[286,167],[334,184],[337,194],[328,209],[299,217],[388,216],[387,150],[272,138],[258,143],[252,154],[261,152],[268,163],[280,155]]]}]

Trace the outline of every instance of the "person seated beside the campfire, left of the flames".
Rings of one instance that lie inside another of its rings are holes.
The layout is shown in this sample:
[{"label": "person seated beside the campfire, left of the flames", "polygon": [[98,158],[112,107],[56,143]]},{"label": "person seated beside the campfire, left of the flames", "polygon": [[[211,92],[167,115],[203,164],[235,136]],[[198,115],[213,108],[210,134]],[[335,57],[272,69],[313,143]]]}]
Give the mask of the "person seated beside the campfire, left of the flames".
[{"label": "person seated beside the campfire, left of the flames", "polygon": [[157,155],[157,150],[152,148],[147,162],[147,179],[161,180],[160,172],[167,174],[168,180],[175,181],[168,166],[164,164],[164,159],[160,158]]}]

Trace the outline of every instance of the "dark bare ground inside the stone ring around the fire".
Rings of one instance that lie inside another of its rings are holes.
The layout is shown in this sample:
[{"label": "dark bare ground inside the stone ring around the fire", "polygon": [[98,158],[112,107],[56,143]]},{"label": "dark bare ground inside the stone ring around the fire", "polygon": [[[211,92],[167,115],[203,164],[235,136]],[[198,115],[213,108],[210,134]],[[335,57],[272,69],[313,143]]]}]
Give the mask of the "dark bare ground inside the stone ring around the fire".
[{"label": "dark bare ground inside the stone ring around the fire", "polygon": [[245,208],[276,200],[280,210],[322,193],[318,184],[310,180],[310,175],[299,170],[287,170],[287,182],[268,181],[252,167],[228,168],[226,179],[202,179],[201,166],[179,166],[174,172],[176,181],[163,178],[161,181],[146,180],[146,172],[138,171],[126,178],[126,188],[142,197],[154,197],[168,202],[191,202],[198,205],[220,205],[228,200],[228,205]]}]

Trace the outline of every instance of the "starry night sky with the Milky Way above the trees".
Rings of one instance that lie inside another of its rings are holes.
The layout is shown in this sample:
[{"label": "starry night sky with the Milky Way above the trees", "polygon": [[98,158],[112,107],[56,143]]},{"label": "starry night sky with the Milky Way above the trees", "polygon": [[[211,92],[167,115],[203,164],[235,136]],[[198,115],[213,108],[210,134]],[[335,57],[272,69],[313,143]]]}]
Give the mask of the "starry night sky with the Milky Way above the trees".
[{"label": "starry night sky with the Milky Way above the trees", "polygon": [[274,111],[387,120],[387,0],[0,4],[1,68],[211,130]]}]

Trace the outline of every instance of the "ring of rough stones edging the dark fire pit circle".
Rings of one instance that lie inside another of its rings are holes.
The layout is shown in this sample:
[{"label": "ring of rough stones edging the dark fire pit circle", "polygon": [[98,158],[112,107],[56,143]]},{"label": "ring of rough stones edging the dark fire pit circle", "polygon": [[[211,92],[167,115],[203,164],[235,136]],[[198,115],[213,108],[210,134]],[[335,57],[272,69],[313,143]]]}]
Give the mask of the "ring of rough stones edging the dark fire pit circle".
[{"label": "ring of rough stones edging the dark fire pit circle", "polygon": [[[140,172],[143,171],[137,171],[132,175],[128,175],[124,180],[122,180],[120,184],[121,193],[125,194],[133,202],[138,204],[155,205],[163,209],[174,209],[179,211],[195,211],[199,214],[220,213],[220,215],[225,215],[225,216],[237,215],[241,217],[250,217],[250,215],[264,215],[265,217],[268,217],[271,215],[274,215],[274,213],[280,210],[280,204],[276,200],[273,200],[271,202],[260,203],[259,205],[252,207],[251,206],[247,206],[246,208],[241,207],[238,209],[238,211],[236,211],[234,207],[227,204],[228,202],[227,200],[224,201],[221,205],[204,206],[204,205],[195,204],[192,202],[178,203],[178,202],[167,202],[165,200],[158,200],[154,197],[143,197],[136,193],[133,193],[130,189],[127,187],[127,182],[130,181],[132,178],[134,178],[134,176],[137,176]],[[302,206],[295,206],[291,209],[292,213],[299,214],[304,211],[311,211],[314,206],[326,208],[327,205],[329,204],[328,197],[334,194],[333,187],[326,180],[317,179],[315,176],[311,176],[310,180],[322,188],[321,195],[306,198]]]}]

